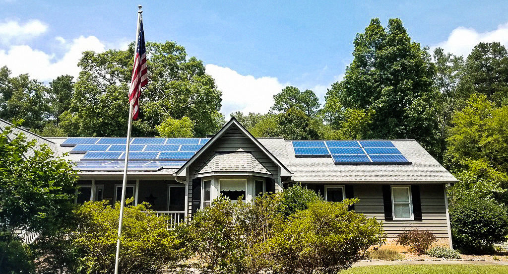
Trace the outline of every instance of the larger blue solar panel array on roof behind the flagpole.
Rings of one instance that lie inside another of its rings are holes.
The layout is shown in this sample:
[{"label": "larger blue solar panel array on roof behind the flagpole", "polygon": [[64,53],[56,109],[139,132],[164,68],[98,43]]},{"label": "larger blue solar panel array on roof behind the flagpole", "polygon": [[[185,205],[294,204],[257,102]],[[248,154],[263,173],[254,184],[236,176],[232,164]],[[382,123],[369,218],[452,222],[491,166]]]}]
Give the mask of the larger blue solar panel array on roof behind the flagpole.
[{"label": "larger blue solar panel array on roof behind the flagpole", "polygon": [[[181,167],[210,138],[132,138],[129,170],[159,170]],[[73,147],[71,154],[84,154],[79,170],[123,169],[126,138],[68,138],[60,146]]]}]

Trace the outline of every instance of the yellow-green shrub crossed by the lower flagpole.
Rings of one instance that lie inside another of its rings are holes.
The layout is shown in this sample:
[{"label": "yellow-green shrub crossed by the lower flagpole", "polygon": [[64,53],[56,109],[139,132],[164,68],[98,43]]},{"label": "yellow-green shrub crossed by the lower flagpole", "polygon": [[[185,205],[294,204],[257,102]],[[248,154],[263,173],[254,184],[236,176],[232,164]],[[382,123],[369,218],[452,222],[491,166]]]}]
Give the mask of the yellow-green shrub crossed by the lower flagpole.
[{"label": "yellow-green shrub crossed by the lower flagpole", "polygon": [[[130,202],[132,198],[126,201]],[[74,254],[75,261],[69,263],[76,265],[67,269],[87,274],[113,272],[120,203],[106,204],[107,201],[86,202],[79,206],[75,211],[78,226],[60,236],[70,242],[54,243],[53,246],[62,249],[61,253]],[[71,250],[67,250],[70,246]],[[153,214],[149,204],[124,207],[121,273],[161,273],[164,268],[175,267],[186,255],[176,232],[167,229],[167,218]],[[54,267],[64,268],[63,265]]]}]

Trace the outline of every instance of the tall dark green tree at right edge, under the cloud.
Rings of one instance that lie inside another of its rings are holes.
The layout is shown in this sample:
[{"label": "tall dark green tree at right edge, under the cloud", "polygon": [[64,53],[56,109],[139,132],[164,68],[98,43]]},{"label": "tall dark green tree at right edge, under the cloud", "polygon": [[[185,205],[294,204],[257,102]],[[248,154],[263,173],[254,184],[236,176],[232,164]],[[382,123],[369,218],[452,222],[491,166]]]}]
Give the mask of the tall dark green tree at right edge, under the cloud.
[{"label": "tall dark green tree at right edge, under the cloud", "polygon": [[[466,58],[465,92],[486,95],[499,106],[508,96],[508,51],[499,42],[479,43]],[[467,98],[467,97],[466,97]]]}]

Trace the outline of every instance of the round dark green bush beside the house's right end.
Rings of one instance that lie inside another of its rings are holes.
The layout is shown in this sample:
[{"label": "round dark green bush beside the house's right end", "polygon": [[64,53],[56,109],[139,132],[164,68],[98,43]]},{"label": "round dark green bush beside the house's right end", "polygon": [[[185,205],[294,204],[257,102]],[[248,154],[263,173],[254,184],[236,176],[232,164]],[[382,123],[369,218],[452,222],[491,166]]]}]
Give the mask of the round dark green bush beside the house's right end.
[{"label": "round dark green bush beside the house's right end", "polygon": [[506,240],[508,212],[488,199],[462,199],[450,208],[454,244],[463,253],[492,250],[494,243]]}]

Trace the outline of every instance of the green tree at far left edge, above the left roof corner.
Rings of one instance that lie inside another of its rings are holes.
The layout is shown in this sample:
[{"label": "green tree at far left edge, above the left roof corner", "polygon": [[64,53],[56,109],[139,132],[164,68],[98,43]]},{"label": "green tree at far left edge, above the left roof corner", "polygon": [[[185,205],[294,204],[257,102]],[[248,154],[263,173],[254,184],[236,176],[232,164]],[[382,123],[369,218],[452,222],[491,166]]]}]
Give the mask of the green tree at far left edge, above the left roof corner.
[{"label": "green tree at far left edge, above the left roof corner", "polygon": [[7,67],[0,69],[0,118],[8,121],[23,119],[22,126],[42,129],[49,111],[45,99],[48,88],[30,79],[28,74],[10,75]]}]

